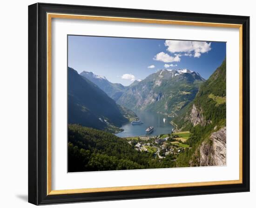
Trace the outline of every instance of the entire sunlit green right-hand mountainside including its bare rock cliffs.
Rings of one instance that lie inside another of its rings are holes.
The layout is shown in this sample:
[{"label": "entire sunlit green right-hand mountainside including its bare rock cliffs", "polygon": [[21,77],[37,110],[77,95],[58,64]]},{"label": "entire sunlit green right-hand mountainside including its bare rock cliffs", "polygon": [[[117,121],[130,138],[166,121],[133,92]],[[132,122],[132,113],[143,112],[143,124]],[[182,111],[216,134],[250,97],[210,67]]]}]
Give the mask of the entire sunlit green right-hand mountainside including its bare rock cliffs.
[{"label": "entire sunlit green right-hand mountainside including its bare rock cliffs", "polygon": [[[177,166],[202,166],[224,163],[225,155],[218,156],[213,151],[213,143],[222,145],[226,149],[226,60],[204,82],[195,99],[179,112],[173,122],[179,130],[190,130],[192,136],[187,140],[191,149],[181,154],[177,159]],[[214,136],[218,135],[218,138]],[[216,145],[216,144],[215,144]],[[205,152],[212,152],[212,156],[204,156]],[[214,152],[214,153],[213,153]],[[222,157],[219,161],[205,163],[210,157]]]}]

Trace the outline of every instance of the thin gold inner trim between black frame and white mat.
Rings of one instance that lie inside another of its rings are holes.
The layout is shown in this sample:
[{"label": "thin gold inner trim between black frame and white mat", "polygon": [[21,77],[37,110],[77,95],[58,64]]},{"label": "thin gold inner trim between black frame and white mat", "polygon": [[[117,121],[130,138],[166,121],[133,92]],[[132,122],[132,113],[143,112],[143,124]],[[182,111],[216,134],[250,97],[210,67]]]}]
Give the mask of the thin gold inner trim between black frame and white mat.
[{"label": "thin gold inner trim between black frame and white mat", "polygon": [[[183,26],[211,26],[211,27],[228,27],[239,28],[239,180],[214,181],[214,182],[188,182],[188,183],[171,183],[157,185],[141,185],[141,186],[122,186],[107,188],[87,188],[87,189],[66,189],[52,190],[52,160],[51,160],[51,71],[52,71],[52,53],[51,53],[51,23],[53,18],[61,19],[77,19],[77,20],[99,20],[99,21],[118,21],[118,22],[135,22],[165,25],[183,25]],[[243,183],[243,25],[225,24],[213,22],[195,22],[195,21],[179,21],[179,20],[157,20],[142,18],[123,18],[108,16],[92,16],[92,15],[75,15],[64,13],[47,13],[47,195],[60,194],[78,194],[93,193],[106,191],[124,191],[124,190],[143,190],[143,189],[163,189],[178,187],[194,187],[194,186],[212,186]]]}]

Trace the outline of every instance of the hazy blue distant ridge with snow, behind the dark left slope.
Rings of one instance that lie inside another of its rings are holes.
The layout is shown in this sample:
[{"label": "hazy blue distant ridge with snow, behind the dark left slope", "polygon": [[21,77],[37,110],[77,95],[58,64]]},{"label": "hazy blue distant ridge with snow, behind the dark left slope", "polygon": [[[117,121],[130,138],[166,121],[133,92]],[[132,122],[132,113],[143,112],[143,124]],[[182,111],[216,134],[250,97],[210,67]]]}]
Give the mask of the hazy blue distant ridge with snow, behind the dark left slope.
[{"label": "hazy blue distant ridge with snow, behind the dark left slope", "polygon": [[126,89],[126,87],[122,84],[111,83],[105,76],[96,75],[93,72],[82,71],[80,75],[96,84],[99,88],[101,88],[101,90],[106,92],[108,96],[114,100],[118,100]]}]

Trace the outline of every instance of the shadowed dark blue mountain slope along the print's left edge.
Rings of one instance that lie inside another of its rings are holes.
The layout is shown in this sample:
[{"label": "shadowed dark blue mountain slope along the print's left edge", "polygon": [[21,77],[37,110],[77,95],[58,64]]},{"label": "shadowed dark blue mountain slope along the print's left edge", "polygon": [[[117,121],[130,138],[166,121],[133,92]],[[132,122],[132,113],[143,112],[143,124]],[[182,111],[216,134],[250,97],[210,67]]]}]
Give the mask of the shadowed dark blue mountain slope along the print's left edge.
[{"label": "shadowed dark blue mountain slope along the print's left edge", "polygon": [[68,67],[68,123],[117,132],[133,116],[97,85]]}]

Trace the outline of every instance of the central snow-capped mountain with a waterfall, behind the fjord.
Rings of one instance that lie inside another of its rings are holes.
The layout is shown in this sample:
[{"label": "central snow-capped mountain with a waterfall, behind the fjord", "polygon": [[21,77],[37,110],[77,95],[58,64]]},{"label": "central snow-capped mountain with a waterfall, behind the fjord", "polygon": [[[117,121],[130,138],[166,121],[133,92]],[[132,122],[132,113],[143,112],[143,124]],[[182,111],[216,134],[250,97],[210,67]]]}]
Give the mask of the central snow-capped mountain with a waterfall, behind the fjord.
[{"label": "central snow-capped mountain with a waterfall, behind the fjord", "polygon": [[161,70],[128,86],[117,103],[132,110],[173,116],[194,99],[203,82],[194,71]]}]

